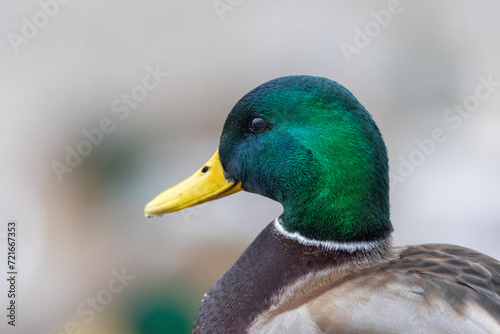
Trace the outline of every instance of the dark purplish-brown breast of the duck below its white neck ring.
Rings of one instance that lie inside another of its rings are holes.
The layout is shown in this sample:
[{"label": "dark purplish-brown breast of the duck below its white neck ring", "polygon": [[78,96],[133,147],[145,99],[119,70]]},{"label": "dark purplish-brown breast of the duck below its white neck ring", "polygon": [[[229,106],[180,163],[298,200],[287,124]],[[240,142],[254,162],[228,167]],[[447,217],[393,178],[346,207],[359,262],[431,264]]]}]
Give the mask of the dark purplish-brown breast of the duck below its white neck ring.
[{"label": "dark purplish-brown breast of the duck below its white neck ring", "polygon": [[[254,320],[277,302],[287,286],[310,273],[330,270],[339,278],[348,269],[381,261],[392,254],[389,242],[381,244],[375,251],[352,253],[309,246],[285,237],[271,223],[206,295],[193,333],[246,333]],[[324,291],[331,281],[332,277],[322,277],[314,291]],[[312,294],[309,290],[295,294],[283,307],[296,307]]]}]

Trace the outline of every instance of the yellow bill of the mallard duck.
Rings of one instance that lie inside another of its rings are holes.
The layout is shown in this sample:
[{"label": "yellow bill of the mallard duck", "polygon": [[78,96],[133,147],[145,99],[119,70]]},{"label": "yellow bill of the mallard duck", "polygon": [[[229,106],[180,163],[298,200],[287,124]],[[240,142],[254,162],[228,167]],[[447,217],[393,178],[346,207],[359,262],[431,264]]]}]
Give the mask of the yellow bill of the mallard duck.
[{"label": "yellow bill of the mallard duck", "polygon": [[224,177],[217,150],[196,173],[149,202],[144,213],[147,217],[163,215],[229,196],[240,190],[241,182],[227,181]]}]

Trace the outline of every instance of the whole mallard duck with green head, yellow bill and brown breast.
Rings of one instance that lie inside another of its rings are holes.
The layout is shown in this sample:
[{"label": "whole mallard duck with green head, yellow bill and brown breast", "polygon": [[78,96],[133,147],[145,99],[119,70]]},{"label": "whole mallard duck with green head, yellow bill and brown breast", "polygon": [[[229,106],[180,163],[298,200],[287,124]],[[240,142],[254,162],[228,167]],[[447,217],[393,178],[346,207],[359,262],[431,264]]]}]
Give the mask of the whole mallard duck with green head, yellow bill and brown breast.
[{"label": "whole mallard duck with green head, yellow bill and brown breast", "polygon": [[394,247],[388,170],[377,125],[332,80],[287,76],[241,98],[213,157],[145,208],[240,190],[283,206],[205,295],[193,333],[500,333],[500,262]]}]

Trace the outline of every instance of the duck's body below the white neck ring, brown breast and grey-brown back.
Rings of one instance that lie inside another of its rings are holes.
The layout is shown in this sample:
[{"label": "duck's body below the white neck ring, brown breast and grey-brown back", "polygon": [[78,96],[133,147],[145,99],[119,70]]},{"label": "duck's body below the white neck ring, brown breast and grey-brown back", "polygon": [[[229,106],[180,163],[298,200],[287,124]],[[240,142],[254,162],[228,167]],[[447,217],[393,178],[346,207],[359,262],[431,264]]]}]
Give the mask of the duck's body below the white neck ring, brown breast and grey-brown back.
[{"label": "duck's body below the white neck ring, brown breast and grey-brown back", "polygon": [[301,306],[310,333],[500,331],[498,261],[440,244],[377,252],[306,246],[269,224],[207,294],[193,333],[294,333]]}]

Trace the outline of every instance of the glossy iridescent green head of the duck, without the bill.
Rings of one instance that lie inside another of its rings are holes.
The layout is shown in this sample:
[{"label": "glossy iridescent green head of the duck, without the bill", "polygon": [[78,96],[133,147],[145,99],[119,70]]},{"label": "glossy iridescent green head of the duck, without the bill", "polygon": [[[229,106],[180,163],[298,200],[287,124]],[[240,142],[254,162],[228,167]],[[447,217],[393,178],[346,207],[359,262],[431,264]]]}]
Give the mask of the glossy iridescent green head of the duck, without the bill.
[{"label": "glossy iridescent green head of the duck, without the bill", "polygon": [[384,141],[332,80],[288,76],[246,94],[226,120],[219,157],[226,179],[283,205],[288,232],[337,242],[392,232]]}]

